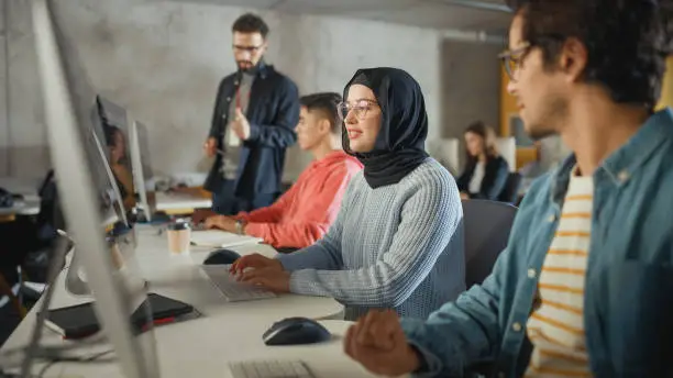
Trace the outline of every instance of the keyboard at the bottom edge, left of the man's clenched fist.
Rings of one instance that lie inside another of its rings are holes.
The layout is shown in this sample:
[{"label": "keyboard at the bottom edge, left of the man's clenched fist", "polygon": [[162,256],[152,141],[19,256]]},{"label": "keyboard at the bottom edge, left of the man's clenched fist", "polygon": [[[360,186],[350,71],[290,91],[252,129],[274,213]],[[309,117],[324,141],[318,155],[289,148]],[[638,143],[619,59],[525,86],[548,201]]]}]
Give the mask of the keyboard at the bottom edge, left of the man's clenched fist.
[{"label": "keyboard at the bottom edge, left of the man's clenched fist", "polygon": [[234,378],[315,378],[300,360],[250,360],[229,364]]}]

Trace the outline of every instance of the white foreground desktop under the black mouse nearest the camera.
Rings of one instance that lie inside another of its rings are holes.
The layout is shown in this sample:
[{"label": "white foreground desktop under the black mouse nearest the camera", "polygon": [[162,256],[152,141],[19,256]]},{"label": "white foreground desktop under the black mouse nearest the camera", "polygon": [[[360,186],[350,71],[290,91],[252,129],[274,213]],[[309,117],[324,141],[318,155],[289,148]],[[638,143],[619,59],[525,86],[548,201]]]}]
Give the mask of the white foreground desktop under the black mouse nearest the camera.
[{"label": "white foreground desktop under the black mouse nearest the camera", "polygon": [[[343,337],[351,323],[345,321],[320,323],[332,333],[332,340],[297,346],[264,345],[261,335],[267,325],[257,322],[246,322],[245,326],[224,326],[205,322],[184,323],[183,329],[166,326],[161,332],[156,332],[161,377],[230,378],[232,377],[228,367],[230,362],[251,359],[300,359],[308,365],[316,377],[320,378],[374,377],[342,352]],[[45,377],[118,378],[122,375],[119,365],[112,363],[93,365],[59,363],[48,368]]]}]

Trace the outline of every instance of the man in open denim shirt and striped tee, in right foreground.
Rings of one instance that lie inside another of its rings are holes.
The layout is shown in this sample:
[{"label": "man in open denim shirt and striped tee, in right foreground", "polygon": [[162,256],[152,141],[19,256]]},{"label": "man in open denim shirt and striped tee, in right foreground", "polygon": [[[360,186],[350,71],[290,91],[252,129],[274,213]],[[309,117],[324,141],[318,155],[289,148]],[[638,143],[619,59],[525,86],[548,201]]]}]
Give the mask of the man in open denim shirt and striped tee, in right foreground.
[{"label": "man in open denim shirt and striped tee, in right foreground", "polygon": [[345,352],[386,376],[479,364],[487,377],[673,377],[673,112],[654,112],[663,9],[510,7],[507,89],[527,133],[558,133],[573,155],[533,184],[483,285],[427,320],[371,312]]}]

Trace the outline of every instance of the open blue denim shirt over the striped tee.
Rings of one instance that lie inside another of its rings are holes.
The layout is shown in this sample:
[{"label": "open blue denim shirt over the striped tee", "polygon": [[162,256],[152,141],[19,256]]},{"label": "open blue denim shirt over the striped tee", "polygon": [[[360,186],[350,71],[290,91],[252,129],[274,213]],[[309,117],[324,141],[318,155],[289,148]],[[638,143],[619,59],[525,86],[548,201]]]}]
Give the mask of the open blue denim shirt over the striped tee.
[{"label": "open blue denim shirt over the striped tee", "polygon": [[[418,376],[462,377],[488,362],[520,377],[526,323],[574,156],[526,196],[493,274],[427,321],[402,319],[424,357]],[[594,174],[584,326],[595,377],[673,377],[673,113],[653,114]],[[484,235],[488,237],[488,235]]]}]

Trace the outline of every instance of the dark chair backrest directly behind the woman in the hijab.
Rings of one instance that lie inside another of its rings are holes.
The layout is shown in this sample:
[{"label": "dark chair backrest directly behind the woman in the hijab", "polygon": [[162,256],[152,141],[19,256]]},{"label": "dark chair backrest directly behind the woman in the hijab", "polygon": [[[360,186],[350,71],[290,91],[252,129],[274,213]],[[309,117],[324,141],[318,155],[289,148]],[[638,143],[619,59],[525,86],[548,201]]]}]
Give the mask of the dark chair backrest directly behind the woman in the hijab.
[{"label": "dark chair backrest directly behind the woman in the hijab", "polygon": [[487,200],[463,201],[465,224],[465,285],[482,284],[507,246],[517,208]]}]

